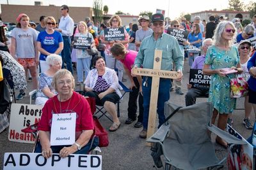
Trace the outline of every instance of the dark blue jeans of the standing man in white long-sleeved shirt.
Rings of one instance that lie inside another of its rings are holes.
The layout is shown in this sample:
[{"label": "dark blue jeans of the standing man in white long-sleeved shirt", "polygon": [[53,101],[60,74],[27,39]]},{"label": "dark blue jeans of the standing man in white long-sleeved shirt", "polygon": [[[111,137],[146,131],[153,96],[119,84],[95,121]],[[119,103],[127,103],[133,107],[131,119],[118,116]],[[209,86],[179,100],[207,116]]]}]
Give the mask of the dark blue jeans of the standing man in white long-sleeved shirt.
[{"label": "dark blue jeans of the standing man in white long-sleeved shirt", "polygon": [[73,74],[72,71],[72,61],[71,61],[71,39],[69,36],[63,36],[63,50],[61,51],[61,57],[62,57],[62,67],[64,68],[64,62],[67,64],[67,69]]}]

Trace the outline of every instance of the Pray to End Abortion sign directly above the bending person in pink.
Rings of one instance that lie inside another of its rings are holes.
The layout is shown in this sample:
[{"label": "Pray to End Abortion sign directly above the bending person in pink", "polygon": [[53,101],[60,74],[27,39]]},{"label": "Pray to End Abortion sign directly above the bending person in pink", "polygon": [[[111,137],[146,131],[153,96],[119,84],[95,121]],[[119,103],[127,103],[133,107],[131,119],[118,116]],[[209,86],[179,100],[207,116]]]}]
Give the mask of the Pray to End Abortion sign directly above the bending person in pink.
[{"label": "Pray to End Abortion sign directly above the bending person in pink", "polygon": [[104,29],[105,41],[124,40],[124,38],[125,38],[124,27]]}]

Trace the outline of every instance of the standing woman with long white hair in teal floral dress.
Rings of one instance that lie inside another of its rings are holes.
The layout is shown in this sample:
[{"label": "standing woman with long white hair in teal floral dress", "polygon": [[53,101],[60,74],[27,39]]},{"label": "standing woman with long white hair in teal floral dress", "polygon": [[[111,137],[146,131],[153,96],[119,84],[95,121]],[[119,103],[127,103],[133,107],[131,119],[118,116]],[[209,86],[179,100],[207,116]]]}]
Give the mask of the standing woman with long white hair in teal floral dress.
[{"label": "standing woman with long white hair in teal floral dress", "polygon": [[[223,21],[218,24],[214,32],[213,45],[207,50],[203,73],[211,75],[211,86],[209,89],[209,102],[212,103],[214,110],[212,114],[212,124],[218,118],[218,127],[225,129],[228,114],[236,108],[236,99],[230,97],[230,78],[234,74],[223,73],[223,68],[236,69],[239,73],[243,72],[239,60],[237,47],[233,45],[236,37],[236,27],[230,21]],[[227,148],[227,142],[216,137],[216,143]]]}]

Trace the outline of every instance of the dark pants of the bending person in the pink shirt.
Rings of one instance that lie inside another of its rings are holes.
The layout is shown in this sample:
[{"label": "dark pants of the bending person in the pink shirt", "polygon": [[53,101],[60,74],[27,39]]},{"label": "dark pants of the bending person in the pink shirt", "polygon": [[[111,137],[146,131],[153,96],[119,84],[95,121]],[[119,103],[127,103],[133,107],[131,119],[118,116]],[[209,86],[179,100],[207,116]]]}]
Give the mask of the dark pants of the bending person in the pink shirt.
[{"label": "dark pants of the bending person in the pink shirt", "polygon": [[133,77],[133,81],[136,87],[132,88],[132,92],[129,94],[129,101],[128,101],[128,118],[132,120],[136,120],[136,112],[137,112],[137,99],[139,96],[139,115],[138,115],[138,122],[143,122],[143,96],[140,93],[140,83],[136,77]]}]

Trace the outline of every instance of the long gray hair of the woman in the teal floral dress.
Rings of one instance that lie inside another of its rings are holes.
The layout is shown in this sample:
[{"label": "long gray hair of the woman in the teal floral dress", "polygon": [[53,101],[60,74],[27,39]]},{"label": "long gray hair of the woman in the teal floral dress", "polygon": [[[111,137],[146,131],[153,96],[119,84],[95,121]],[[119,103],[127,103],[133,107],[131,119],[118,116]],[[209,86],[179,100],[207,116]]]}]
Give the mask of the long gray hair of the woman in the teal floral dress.
[{"label": "long gray hair of the woman in the teal floral dress", "polygon": [[[225,27],[227,25],[231,25],[233,27],[233,29],[236,30],[236,27],[233,24],[233,22],[230,22],[227,20],[220,22],[214,31],[214,36],[212,37],[212,39],[213,39],[212,45],[215,45],[215,46],[220,45],[220,42],[222,39],[222,34],[225,31]],[[234,33],[232,39],[230,41],[228,41],[228,46],[232,46],[236,42],[236,32]]]}]

